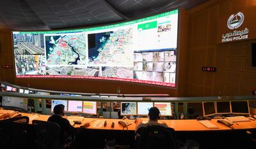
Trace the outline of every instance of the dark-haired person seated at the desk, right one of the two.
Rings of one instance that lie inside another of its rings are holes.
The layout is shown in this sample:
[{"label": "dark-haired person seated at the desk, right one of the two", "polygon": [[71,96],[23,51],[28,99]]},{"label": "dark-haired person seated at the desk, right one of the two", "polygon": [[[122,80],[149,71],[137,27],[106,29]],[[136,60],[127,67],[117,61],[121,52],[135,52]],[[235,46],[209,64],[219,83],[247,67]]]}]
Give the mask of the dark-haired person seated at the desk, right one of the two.
[{"label": "dark-haired person seated at the desk, right one of the two", "polygon": [[138,119],[137,122],[136,122],[136,131],[140,128],[140,127],[147,127],[148,125],[161,125],[163,127],[168,127],[166,125],[166,123],[164,122],[161,122],[159,123],[158,120],[160,118],[160,111],[157,107],[152,107],[148,110],[148,117],[149,117],[149,120],[146,124],[143,124],[142,123],[142,120],[141,119]]}]

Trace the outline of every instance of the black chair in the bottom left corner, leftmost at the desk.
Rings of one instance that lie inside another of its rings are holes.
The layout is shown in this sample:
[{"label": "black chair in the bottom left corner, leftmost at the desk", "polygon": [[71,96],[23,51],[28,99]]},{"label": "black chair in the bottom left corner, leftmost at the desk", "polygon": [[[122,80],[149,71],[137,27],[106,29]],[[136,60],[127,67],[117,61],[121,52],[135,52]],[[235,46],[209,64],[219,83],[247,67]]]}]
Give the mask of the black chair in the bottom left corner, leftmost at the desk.
[{"label": "black chair in the bottom left corner, leftmost at the desk", "polygon": [[0,148],[33,148],[28,117],[0,120]]}]

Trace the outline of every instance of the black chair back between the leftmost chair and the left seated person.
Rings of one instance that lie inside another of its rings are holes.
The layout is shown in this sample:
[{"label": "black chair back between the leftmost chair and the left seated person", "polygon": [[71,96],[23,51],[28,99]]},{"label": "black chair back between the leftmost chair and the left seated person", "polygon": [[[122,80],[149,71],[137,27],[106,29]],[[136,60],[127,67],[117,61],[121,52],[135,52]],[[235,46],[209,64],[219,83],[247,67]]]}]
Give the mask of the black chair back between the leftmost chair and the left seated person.
[{"label": "black chair back between the leftmost chair and the left seated person", "polygon": [[60,125],[41,120],[33,120],[32,123],[38,137],[36,143],[38,149],[60,148]]}]

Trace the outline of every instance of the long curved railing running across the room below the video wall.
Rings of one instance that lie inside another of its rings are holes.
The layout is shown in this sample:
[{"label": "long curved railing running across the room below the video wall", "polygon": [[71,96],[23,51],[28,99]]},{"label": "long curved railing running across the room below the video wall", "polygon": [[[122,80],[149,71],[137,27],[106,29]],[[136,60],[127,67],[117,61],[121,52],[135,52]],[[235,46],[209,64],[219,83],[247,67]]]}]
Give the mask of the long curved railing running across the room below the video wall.
[{"label": "long curved railing running across the room below the video wall", "polygon": [[[171,102],[174,103],[174,112],[178,113],[179,103],[183,104],[183,113],[187,113],[188,103],[209,102],[209,101],[254,101],[256,96],[221,96],[221,97],[168,97],[168,94],[93,94],[79,92],[61,92],[54,90],[40,90],[28,87],[20,87],[8,82],[0,82],[17,89],[27,89],[36,92],[49,92],[51,94],[76,94],[81,96],[59,96],[59,95],[40,95],[40,94],[22,94],[18,92],[0,92],[0,96],[24,97],[34,99],[35,110],[39,109],[39,100],[41,99],[42,112],[46,111],[45,99],[69,100],[69,101],[97,101],[97,102]],[[99,97],[95,97],[99,96]],[[104,97],[102,97],[104,96]],[[106,97],[108,96],[108,97]],[[101,105],[102,108],[102,105]]]}]

